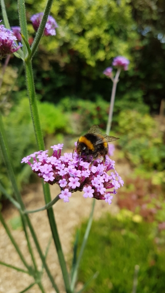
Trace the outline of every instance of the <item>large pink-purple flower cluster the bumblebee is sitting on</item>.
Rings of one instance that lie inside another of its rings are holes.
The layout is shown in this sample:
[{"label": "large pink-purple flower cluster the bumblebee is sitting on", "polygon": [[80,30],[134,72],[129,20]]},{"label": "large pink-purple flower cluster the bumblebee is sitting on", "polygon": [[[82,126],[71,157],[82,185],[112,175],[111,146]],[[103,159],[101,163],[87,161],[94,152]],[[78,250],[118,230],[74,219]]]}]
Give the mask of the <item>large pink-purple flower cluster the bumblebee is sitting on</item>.
[{"label": "large pink-purple flower cluster the bumblebee is sitting on", "polygon": [[[94,197],[105,200],[109,205],[112,202],[116,189],[124,184],[122,178],[115,171],[114,164],[108,156],[103,164],[101,159],[95,160],[90,165],[84,158],[78,156],[75,152],[62,153],[63,144],[51,146],[53,148],[52,156],[48,156],[45,151],[35,152],[22,159],[21,163],[27,163],[33,172],[51,185],[57,183],[61,188],[59,197],[64,202],[69,202],[72,192],[77,190],[84,191],[83,197]],[[33,162],[30,162],[33,160]],[[107,171],[113,170],[110,175]],[[106,191],[113,188],[112,191]]]}]

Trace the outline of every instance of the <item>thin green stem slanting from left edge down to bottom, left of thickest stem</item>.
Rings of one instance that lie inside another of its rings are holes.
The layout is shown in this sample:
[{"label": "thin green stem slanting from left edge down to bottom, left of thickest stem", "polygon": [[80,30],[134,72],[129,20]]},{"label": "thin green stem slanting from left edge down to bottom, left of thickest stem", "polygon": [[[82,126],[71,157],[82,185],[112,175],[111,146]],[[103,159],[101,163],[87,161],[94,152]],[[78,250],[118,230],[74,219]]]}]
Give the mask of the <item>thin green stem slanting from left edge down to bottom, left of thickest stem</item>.
[{"label": "thin green stem slanting from left edge down to bottom, left of thickest stem", "polygon": [[[6,139],[5,139],[5,133],[4,133],[4,128],[3,128],[1,116],[0,116],[0,146],[1,146],[4,162],[5,162],[5,165],[6,165],[7,170],[8,170],[8,175],[9,175],[9,178],[11,180],[16,199],[17,199],[17,201],[19,202],[19,204],[21,206],[21,210],[24,211],[25,207],[24,207],[24,204],[23,204],[22,199],[21,199],[20,191],[19,191],[19,189],[17,187],[15,175],[14,175],[14,172],[13,172],[13,168],[11,166],[11,160],[10,160],[9,153],[8,153],[7,142],[6,142]],[[22,217],[22,219],[23,219],[23,217]],[[27,214],[25,214],[25,219],[26,219],[26,222],[27,222],[27,224],[29,226],[30,232],[31,232],[32,237],[34,239],[34,242],[35,242],[35,245],[37,247],[37,250],[38,250],[38,252],[40,254],[40,257],[41,257],[43,266],[44,266],[44,268],[45,268],[45,270],[47,272],[47,275],[48,275],[49,279],[51,280],[54,289],[56,290],[57,293],[59,293],[59,290],[58,290],[58,288],[57,288],[57,286],[56,286],[56,284],[54,282],[54,279],[53,279],[53,277],[52,277],[52,275],[51,275],[51,273],[50,273],[50,271],[49,271],[49,269],[48,269],[48,267],[47,267],[47,265],[45,263],[45,258],[44,258],[43,254],[42,254],[38,239],[36,237],[35,231],[33,229],[33,226],[31,224],[30,219],[28,218]],[[27,265],[27,267],[28,267],[28,265]]]}]

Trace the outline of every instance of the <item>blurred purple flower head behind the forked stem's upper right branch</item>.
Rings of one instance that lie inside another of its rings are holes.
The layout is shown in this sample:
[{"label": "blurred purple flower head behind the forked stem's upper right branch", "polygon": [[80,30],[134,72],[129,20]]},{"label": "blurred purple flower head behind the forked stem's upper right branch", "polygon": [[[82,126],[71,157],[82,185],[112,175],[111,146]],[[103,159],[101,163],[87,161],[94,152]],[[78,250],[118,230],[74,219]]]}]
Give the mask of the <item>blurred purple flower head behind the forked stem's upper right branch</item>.
[{"label": "blurred purple flower head behind the forked stem's upper right branch", "polygon": [[[32,21],[32,24],[33,24],[33,27],[34,27],[35,31],[38,30],[38,28],[40,26],[40,23],[41,23],[41,20],[42,20],[42,17],[43,17],[43,12],[34,14],[31,17],[30,20]],[[43,34],[45,36],[56,36],[55,28],[57,28],[57,27],[58,27],[57,22],[55,21],[55,19],[52,16],[49,15],[48,19],[47,19],[47,22],[46,22],[46,25],[45,25],[45,29],[44,29]]]}]

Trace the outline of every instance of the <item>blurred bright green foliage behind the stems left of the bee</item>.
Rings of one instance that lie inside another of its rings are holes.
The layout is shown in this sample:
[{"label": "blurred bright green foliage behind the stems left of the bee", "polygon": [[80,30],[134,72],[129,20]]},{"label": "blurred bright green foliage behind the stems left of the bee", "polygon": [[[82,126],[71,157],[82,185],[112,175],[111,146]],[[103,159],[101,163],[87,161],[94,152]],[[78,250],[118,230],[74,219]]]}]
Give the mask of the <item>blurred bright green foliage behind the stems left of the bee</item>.
[{"label": "blurred bright green foliage behind the stems left of the bee", "polygon": [[[10,113],[3,117],[5,132],[8,140],[11,162],[17,177],[19,187],[22,183],[28,183],[32,174],[27,164],[21,164],[21,159],[34,151],[37,151],[36,139],[31,120],[29,101],[22,97],[20,103],[13,106]],[[25,95],[25,94],[24,94]],[[71,133],[69,117],[63,115],[60,106],[38,102],[41,127],[44,137],[48,134]],[[11,193],[12,189],[7,177],[6,167],[0,156],[0,181],[3,187]]]}]

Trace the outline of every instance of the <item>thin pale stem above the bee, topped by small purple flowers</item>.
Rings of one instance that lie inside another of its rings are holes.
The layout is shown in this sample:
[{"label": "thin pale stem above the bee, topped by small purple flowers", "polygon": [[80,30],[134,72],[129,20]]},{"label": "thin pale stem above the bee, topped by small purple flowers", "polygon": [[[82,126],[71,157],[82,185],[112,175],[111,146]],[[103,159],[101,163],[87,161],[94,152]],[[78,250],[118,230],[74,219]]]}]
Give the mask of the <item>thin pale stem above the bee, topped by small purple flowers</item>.
[{"label": "thin pale stem above the bee, topped by small purple flowers", "polygon": [[106,126],[106,134],[109,135],[111,124],[112,124],[112,116],[113,116],[113,107],[114,107],[114,101],[115,101],[115,94],[116,94],[116,86],[119,81],[119,75],[121,72],[121,68],[118,68],[113,82],[112,86],[112,93],[111,93],[111,100],[110,100],[110,108],[109,108],[109,116],[108,116],[108,122]]}]

